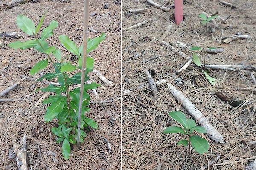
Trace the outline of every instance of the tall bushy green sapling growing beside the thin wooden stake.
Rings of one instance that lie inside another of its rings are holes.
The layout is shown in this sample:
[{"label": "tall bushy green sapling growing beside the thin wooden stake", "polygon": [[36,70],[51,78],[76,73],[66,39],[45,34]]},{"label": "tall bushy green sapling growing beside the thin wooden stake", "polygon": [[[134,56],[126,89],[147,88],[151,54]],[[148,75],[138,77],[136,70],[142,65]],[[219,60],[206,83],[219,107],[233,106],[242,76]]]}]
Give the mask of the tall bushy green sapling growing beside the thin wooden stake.
[{"label": "tall bushy green sapling growing beside the thin wooden stake", "polygon": [[[35,38],[33,40],[28,40],[25,42],[16,41],[10,43],[9,46],[14,49],[28,49],[34,47],[38,52],[43,52],[47,59],[39,61],[35,66],[30,70],[31,75],[35,75],[41,69],[44,69],[48,66],[48,61],[53,63],[55,72],[47,73],[39,78],[37,81],[42,81],[44,79],[51,80],[58,77],[58,83],[60,86],[55,86],[50,84],[46,88],[36,89],[43,92],[53,92],[48,99],[43,101],[43,104],[50,104],[47,108],[47,111],[44,115],[44,120],[48,123],[53,119],[58,119],[59,127],[53,127],[52,133],[57,135],[59,138],[57,143],[62,142],[62,154],[65,159],[70,157],[70,144],[76,144],[76,142],[84,142],[84,138],[87,136],[84,132],[84,129],[90,130],[88,127],[98,129],[98,124],[93,121],[93,119],[87,118],[84,113],[90,111],[89,105],[90,96],[87,93],[88,89],[96,89],[99,84],[84,84],[84,93],[83,93],[83,103],[82,103],[82,115],[81,115],[81,133],[80,140],[78,141],[78,115],[79,115],[79,98],[80,98],[80,88],[71,89],[72,84],[81,84],[81,65],[83,58],[83,45],[79,48],[76,44],[71,41],[67,35],[60,35],[59,39],[65,48],[72,54],[76,55],[78,60],[73,65],[71,62],[65,62],[65,58],[62,58],[61,50],[56,49],[54,46],[49,46],[49,43],[45,41],[48,37],[53,35],[53,29],[58,27],[57,21],[52,21],[48,27],[43,29],[41,37],[39,38],[37,33],[40,30],[42,23],[44,21],[45,15],[42,17],[37,28],[32,20],[24,15],[19,15],[17,17],[18,27],[25,32],[26,34],[33,35]],[[96,49],[103,40],[105,39],[105,34],[102,34],[99,37],[93,38],[93,40],[88,39],[87,42],[87,54]],[[53,58],[53,56],[55,59]],[[57,62],[55,62],[57,61]],[[85,81],[89,79],[87,76],[88,72],[93,71],[94,59],[88,57],[86,64],[86,74]],[[79,70],[79,73],[75,75],[72,73],[76,70]]]}]

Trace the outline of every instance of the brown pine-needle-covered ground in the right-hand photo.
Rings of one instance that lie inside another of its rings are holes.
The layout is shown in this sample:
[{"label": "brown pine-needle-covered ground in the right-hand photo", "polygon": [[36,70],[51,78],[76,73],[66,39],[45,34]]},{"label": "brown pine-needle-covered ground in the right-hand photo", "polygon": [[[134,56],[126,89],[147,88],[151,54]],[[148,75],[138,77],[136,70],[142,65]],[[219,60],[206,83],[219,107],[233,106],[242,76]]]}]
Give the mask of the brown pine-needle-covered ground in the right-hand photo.
[{"label": "brown pine-needle-covered ground in the right-hand photo", "polygon": [[[161,45],[160,37],[170,25],[169,34],[163,38],[167,43],[180,41],[187,46],[224,48],[218,54],[201,54],[201,62],[211,65],[234,64],[244,62],[256,54],[256,13],[253,0],[228,0],[239,6],[231,9],[218,0],[183,0],[185,20],[179,26],[173,18],[173,0],[154,0],[154,2],[171,8],[164,12],[151,6],[144,0],[122,1],[122,88],[133,89],[132,95],[123,96],[122,104],[122,170],[195,170],[206,165],[208,170],[245,170],[255,160],[256,148],[248,142],[256,141],[255,85],[251,74],[227,70],[211,70],[209,75],[217,84],[210,84],[200,69],[189,66],[185,71],[176,74],[187,63],[188,59],[176,55]],[[148,11],[129,16],[129,10],[148,8]],[[218,28],[215,32],[207,30],[198,14],[206,12],[227,20],[215,20]],[[144,26],[126,30],[125,27],[146,21]],[[250,35],[250,40],[235,40],[221,43],[222,37],[236,34]],[[187,55],[193,53],[190,47],[183,49]],[[175,46],[178,50],[182,49]],[[157,58],[142,63],[147,59]],[[204,58],[205,57],[205,58]],[[256,63],[256,57],[250,58],[247,65]],[[188,112],[167,91],[167,86],[158,87],[153,97],[150,90],[138,90],[148,84],[145,69],[151,72],[154,81],[168,80],[179,89],[202,112],[207,120],[224,136],[225,144],[216,144],[206,134],[201,135],[209,141],[209,152],[200,155],[189,148],[177,146],[177,142],[186,138],[180,134],[163,134],[170,125],[180,126],[168,114],[171,111]],[[255,70],[254,70],[255,71]],[[251,71],[254,74],[255,72]],[[175,84],[180,78],[182,84]],[[244,90],[244,89],[253,89]],[[244,107],[233,107],[217,97],[216,91],[229,91],[240,100]],[[213,162],[220,154],[220,158]]]}]

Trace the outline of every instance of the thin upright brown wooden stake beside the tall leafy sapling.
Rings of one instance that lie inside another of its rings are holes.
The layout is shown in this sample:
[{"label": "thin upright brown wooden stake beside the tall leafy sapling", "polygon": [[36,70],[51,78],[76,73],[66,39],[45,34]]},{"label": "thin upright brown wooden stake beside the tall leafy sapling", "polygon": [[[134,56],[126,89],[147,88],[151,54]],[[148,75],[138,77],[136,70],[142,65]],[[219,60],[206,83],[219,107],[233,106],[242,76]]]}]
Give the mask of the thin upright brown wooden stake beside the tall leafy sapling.
[{"label": "thin upright brown wooden stake beside the tall leafy sapling", "polygon": [[88,16],[89,16],[89,0],[84,0],[84,38],[83,38],[83,64],[81,75],[81,87],[80,87],[80,100],[79,100],[79,115],[77,125],[77,147],[80,147],[80,128],[81,128],[81,115],[84,93],[84,78],[86,73],[86,58],[87,58],[87,38],[88,38]]}]

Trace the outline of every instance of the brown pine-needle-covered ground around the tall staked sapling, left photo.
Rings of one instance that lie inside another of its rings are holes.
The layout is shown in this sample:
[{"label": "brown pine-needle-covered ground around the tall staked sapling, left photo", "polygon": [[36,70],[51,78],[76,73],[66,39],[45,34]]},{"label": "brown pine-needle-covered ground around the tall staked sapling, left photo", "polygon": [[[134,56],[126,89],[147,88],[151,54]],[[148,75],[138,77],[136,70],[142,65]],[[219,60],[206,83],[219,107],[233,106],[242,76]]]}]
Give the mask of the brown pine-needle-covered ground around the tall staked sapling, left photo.
[{"label": "brown pine-needle-covered ground around the tall staked sapling, left photo", "polygon": [[[6,1],[3,1],[5,3]],[[108,9],[103,9],[103,5],[108,3]],[[56,143],[55,135],[50,128],[58,124],[57,120],[45,123],[44,113],[46,105],[40,103],[34,109],[35,103],[45,94],[45,92],[35,92],[35,89],[46,87],[47,84],[31,81],[20,77],[25,75],[38,79],[42,72],[33,76],[29,75],[29,70],[38,61],[46,56],[35,49],[24,51],[14,50],[7,46],[17,40],[11,38],[0,39],[0,61],[8,60],[8,63],[0,63],[0,91],[8,88],[15,82],[20,85],[3,96],[4,99],[15,99],[14,102],[0,103],[0,169],[15,170],[17,163],[14,159],[8,158],[9,148],[13,141],[27,136],[28,163],[29,170],[119,170],[121,166],[121,102],[120,100],[102,103],[101,101],[120,98],[121,90],[121,5],[115,0],[93,0],[90,2],[89,28],[99,33],[89,32],[90,38],[97,37],[101,33],[106,33],[105,40],[99,47],[91,52],[89,56],[95,59],[94,68],[101,72],[105,78],[114,83],[113,87],[104,84],[92,72],[90,81],[102,84],[97,88],[99,98],[90,92],[92,101],[99,101],[90,104],[91,111],[87,116],[93,118],[99,124],[99,130],[88,133],[84,144],[80,150],[72,150],[69,160],[65,160],[61,154],[61,145]],[[48,39],[52,46],[60,46],[59,35],[67,35],[75,41],[77,46],[82,43],[83,10],[84,1],[71,0],[68,3],[61,1],[41,0],[38,3],[23,3],[11,9],[0,11],[0,33],[16,32],[22,35],[21,41],[30,40],[31,37],[22,32],[17,24],[16,18],[19,14],[32,19],[38,25],[45,11],[47,15],[43,23],[43,28],[48,26],[52,20],[58,21],[58,28],[54,29],[54,35]],[[103,17],[107,12],[111,14]],[[96,18],[97,17],[97,18]],[[40,30],[42,32],[42,29]],[[63,55],[70,55],[62,51]],[[69,58],[67,58],[69,61]],[[52,65],[44,69],[44,74],[52,72]],[[35,92],[35,93],[34,93]],[[30,95],[31,94],[31,95]],[[20,99],[29,95],[23,99]],[[20,100],[16,100],[20,99]],[[112,119],[116,119],[112,120]],[[105,137],[111,144],[102,138]],[[39,148],[40,151],[39,151]],[[54,154],[49,154],[54,152]]]}]

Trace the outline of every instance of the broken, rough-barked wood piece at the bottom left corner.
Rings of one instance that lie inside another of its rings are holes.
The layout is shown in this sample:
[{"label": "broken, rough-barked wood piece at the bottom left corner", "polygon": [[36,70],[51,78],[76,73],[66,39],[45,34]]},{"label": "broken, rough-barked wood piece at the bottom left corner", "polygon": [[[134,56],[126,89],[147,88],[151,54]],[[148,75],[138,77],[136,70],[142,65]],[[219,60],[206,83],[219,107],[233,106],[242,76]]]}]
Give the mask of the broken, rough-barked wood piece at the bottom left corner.
[{"label": "broken, rough-barked wood piece at the bottom left corner", "polygon": [[26,135],[23,137],[23,147],[20,149],[19,144],[17,141],[13,143],[13,149],[16,151],[16,161],[18,165],[18,170],[28,170],[28,163],[27,163],[27,148],[26,148]]}]

